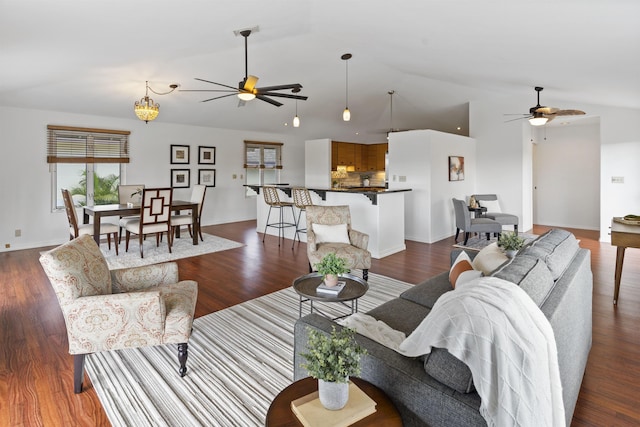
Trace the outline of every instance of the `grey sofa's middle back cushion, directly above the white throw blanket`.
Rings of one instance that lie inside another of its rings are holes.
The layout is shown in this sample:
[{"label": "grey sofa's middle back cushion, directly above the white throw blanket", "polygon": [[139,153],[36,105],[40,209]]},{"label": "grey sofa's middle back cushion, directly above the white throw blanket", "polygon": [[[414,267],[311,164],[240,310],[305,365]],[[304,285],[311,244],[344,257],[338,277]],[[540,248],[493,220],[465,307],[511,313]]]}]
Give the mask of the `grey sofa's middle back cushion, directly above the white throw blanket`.
[{"label": "grey sofa's middle back cushion, directly above the white throw blanket", "polygon": [[555,283],[547,264],[530,255],[517,255],[491,275],[520,286],[538,307],[547,300]]}]

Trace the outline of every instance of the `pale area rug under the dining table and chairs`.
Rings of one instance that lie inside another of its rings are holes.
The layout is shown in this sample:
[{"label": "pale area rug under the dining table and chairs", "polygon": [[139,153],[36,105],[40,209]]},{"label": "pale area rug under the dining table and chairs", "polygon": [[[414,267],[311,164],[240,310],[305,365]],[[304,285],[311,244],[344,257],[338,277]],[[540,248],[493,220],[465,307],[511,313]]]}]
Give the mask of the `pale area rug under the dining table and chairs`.
[{"label": "pale area rug under the dining table and chairs", "polygon": [[244,246],[242,243],[207,233],[202,233],[204,241],[198,241],[198,244],[194,245],[193,239],[189,236],[189,233],[185,232],[182,234],[180,239],[174,239],[173,245],[171,245],[171,253],[169,253],[166,235],[164,237],[163,241],[160,242],[160,246],[156,247],[155,236],[147,236],[147,239],[142,242],[144,258],[140,258],[140,246],[138,245],[137,236],[132,236],[129,240],[128,252],[125,252],[124,250],[124,237],[122,238],[122,243],[120,243],[120,246],[118,247],[118,255],[116,255],[113,242],[111,244],[111,250],[107,247],[106,242],[102,242],[100,244],[100,250],[102,250],[104,257],[107,260],[109,269],[113,270],[117,268],[157,264],[159,262],[204,255],[212,252],[226,251],[228,249]]}]

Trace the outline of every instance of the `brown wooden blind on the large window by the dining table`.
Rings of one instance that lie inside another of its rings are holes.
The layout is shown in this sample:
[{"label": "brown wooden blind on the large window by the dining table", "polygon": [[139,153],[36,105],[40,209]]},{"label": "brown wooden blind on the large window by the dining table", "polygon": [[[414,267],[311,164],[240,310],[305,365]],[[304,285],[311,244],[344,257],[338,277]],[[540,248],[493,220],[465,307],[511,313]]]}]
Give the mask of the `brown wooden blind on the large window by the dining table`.
[{"label": "brown wooden blind on the large window by the dining table", "polygon": [[47,163],[129,163],[130,131],[47,126]]}]

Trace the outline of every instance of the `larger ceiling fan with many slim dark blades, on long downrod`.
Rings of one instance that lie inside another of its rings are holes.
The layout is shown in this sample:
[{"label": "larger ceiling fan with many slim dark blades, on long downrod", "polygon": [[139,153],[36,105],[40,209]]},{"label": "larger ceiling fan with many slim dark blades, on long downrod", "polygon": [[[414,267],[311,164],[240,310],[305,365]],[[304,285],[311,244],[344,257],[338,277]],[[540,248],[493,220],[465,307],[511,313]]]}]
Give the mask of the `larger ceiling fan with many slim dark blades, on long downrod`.
[{"label": "larger ceiling fan with many slim dark blades, on long downrod", "polygon": [[[296,95],[302,89],[302,85],[300,83],[292,83],[292,84],[284,84],[284,85],[276,85],[276,86],[264,86],[264,87],[256,87],[258,83],[258,77],[249,75],[248,73],[248,54],[247,54],[247,39],[251,34],[252,30],[242,30],[238,34],[244,37],[244,79],[238,83],[238,87],[235,88],[233,86],[229,86],[223,83],[217,83],[210,80],[195,78],[195,80],[211,83],[214,85],[222,86],[227,89],[184,89],[181,92],[222,92],[226,93],[225,95],[215,96],[213,98],[205,99],[202,102],[213,101],[215,99],[226,98],[228,96],[237,95],[240,98],[238,103],[238,107],[244,106],[246,101],[251,101],[254,98],[258,98],[261,101],[268,102],[271,105],[275,105],[276,107],[280,107],[282,105],[281,102],[276,101],[275,99],[271,99],[271,97],[277,98],[289,98],[289,99],[299,99],[301,101],[306,101],[308,99],[307,96]],[[291,89],[292,94],[288,93],[278,93],[276,91],[279,90],[287,90]]]}]

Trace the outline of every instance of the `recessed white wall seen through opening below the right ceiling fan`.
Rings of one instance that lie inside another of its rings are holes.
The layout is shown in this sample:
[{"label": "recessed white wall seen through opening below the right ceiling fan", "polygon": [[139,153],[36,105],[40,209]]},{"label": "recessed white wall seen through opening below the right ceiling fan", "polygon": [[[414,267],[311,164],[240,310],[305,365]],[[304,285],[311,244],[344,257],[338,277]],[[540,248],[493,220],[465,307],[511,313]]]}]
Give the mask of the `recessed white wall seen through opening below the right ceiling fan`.
[{"label": "recessed white wall seen through opening below the right ceiling fan", "polygon": [[600,125],[547,127],[534,146],[534,222],[600,229]]}]

